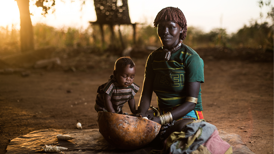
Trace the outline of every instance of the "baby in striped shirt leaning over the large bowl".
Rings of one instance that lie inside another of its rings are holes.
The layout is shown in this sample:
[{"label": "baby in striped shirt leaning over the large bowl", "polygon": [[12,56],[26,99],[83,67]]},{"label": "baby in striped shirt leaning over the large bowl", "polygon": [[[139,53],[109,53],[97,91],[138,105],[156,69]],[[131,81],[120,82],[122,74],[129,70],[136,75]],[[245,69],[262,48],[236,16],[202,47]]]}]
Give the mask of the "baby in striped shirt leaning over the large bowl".
[{"label": "baby in striped shirt leaning over the large bowl", "polygon": [[119,58],[113,75],[97,90],[95,110],[123,114],[122,107],[128,102],[130,111],[136,114],[134,96],[140,86],[133,82],[135,72],[135,64],[129,56]]}]

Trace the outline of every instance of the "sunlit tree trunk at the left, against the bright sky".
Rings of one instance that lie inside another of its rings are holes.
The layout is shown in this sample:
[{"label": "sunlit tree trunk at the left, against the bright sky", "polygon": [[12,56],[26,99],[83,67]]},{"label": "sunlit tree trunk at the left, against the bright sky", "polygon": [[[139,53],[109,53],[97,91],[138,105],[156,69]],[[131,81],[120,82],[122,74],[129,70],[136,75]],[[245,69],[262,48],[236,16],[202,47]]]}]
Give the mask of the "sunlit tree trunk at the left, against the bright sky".
[{"label": "sunlit tree trunk at the left, against the bright sky", "polygon": [[34,49],[29,0],[16,0],[20,12],[21,52]]}]

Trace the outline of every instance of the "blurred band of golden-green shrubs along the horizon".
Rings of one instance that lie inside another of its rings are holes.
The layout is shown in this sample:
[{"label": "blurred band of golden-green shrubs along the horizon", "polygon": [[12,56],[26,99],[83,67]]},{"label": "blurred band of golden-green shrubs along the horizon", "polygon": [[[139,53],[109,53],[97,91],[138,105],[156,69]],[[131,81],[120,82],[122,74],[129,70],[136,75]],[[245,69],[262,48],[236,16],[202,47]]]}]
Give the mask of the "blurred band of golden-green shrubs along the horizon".
[{"label": "blurred band of golden-green shrubs along the horizon", "polygon": [[[121,41],[118,33],[119,26],[115,26],[115,42],[111,42],[111,31],[104,26],[105,43],[101,42],[99,26],[91,25],[87,29],[76,29],[73,27],[54,28],[46,24],[33,26],[35,48],[44,46],[54,47],[92,47],[97,52],[106,49],[121,49]],[[147,46],[160,47],[156,28],[149,25],[139,24],[136,26],[136,44],[133,43],[132,26],[120,26],[122,39],[126,47],[145,48]],[[254,48],[273,52],[273,23],[250,22],[247,26],[239,29],[238,32],[227,34],[225,29],[216,28],[205,33],[203,30],[189,26],[184,44],[191,48],[212,48],[223,47]],[[20,52],[20,34],[14,27],[0,27],[0,54],[13,54]]]}]

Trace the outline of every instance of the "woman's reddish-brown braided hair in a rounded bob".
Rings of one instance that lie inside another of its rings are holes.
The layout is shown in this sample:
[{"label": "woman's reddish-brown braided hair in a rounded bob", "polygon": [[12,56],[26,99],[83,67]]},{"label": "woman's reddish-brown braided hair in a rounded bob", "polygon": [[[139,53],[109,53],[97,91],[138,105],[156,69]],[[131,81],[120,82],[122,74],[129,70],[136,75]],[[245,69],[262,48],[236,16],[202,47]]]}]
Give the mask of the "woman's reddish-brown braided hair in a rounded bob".
[{"label": "woman's reddish-brown braided hair in a rounded bob", "polygon": [[185,40],[187,36],[187,20],[183,12],[177,7],[166,7],[158,12],[155,20],[154,27],[157,28],[159,21],[172,21],[182,27],[183,32],[180,34],[180,39]]}]

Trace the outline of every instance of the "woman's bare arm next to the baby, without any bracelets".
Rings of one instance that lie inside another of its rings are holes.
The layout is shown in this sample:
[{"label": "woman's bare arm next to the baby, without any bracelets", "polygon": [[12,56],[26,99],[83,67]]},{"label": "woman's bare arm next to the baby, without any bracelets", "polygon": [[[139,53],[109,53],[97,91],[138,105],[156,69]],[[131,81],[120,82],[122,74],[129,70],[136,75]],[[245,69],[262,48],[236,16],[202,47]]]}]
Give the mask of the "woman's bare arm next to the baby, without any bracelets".
[{"label": "woman's bare arm next to the baby, without any bracelets", "polygon": [[153,93],[153,78],[144,77],[143,89],[138,105],[138,114],[136,116],[144,117],[146,112],[149,110],[151,97]]}]

